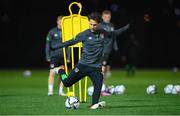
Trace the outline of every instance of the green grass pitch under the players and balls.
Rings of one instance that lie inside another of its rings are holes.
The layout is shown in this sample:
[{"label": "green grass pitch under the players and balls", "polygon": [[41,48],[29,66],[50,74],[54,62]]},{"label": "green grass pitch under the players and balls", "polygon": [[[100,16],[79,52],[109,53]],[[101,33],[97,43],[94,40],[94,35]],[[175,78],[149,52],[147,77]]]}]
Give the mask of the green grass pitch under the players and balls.
[{"label": "green grass pitch under the players and balls", "polygon": [[[64,106],[66,97],[58,96],[57,78],[54,96],[47,96],[48,70],[32,70],[32,76],[25,78],[23,70],[0,71],[0,114],[64,114],[64,115],[180,115],[180,95],[165,95],[165,85],[179,84],[180,72],[171,70],[139,70],[135,77],[128,78],[123,70],[113,70],[108,85],[124,84],[124,95],[101,97],[107,107],[90,110],[91,97],[87,103],[81,103],[77,110],[69,110]],[[89,80],[88,80],[89,81]],[[89,81],[89,84],[90,81]],[[157,85],[156,95],[147,95],[148,85]]]}]

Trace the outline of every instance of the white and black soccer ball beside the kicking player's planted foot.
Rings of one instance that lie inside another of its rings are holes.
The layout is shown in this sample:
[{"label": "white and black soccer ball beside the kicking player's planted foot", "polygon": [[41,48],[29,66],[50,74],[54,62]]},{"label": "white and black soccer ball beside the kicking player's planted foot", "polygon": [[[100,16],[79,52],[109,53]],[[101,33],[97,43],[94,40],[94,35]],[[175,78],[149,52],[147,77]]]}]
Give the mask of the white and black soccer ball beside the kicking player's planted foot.
[{"label": "white and black soccer ball beside the kicking player's planted foot", "polygon": [[68,109],[77,109],[79,107],[79,100],[77,97],[68,97],[66,99],[65,106]]}]

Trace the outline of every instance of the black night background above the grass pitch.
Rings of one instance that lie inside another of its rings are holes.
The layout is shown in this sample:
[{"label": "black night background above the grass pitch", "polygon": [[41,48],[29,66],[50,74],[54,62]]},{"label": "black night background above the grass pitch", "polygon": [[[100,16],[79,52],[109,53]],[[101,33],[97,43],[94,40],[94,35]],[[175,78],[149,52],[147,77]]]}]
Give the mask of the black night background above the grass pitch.
[{"label": "black night background above the grass pitch", "polygon": [[[69,15],[71,2],[1,0],[0,68],[48,67],[44,52],[46,35],[56,26],[58,15]],[[131,29],[118,37],[114,67],[121,67],[123,46],[130,33],[139,41],[139,67],[180,66],[179,0],[84,0],[81,3],[82,15],[111,10],[116,28],[133,21]],[[77,11],[75,6],[73,9]],[[150,22],[144,20],[145,14]]]}]

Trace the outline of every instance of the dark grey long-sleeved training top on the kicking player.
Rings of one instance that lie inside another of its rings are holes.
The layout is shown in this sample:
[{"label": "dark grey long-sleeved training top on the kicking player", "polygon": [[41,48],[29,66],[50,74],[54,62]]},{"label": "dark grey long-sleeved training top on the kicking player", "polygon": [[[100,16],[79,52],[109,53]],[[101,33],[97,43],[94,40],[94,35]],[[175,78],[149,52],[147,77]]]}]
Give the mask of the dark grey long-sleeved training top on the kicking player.
[{"label": "dark grey long-sleeved training top on the kicking player", "polygon": [[83,43],[83,53],[78,63],[90,67],[101,68],[101,59],[104,49],[104,36],[116,36],[129,28],[129,24],[113,31],[99,29],[96,32],[91,32],[87,29],[79,33],[74,39],[66,41],[61,47],[68,47],[78,42]]}]

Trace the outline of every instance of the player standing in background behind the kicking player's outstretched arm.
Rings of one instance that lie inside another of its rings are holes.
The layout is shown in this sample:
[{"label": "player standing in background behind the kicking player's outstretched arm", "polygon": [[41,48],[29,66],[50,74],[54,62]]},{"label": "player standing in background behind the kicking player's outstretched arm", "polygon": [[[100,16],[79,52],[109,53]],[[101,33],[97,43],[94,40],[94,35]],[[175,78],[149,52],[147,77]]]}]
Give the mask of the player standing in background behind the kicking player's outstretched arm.
[{"label": "player standing in background behind the kicking player's outstretched arm", "polygon": [[[104,30],[110,32],[114,30],[114,25],[111,23],[111,11],[104,10],[102,12],[102,19],[100,26]],[[111,60],[113,52],[118,49],[117,42],[114,36],[104,36],[104,49],[102,58],[102,72],[103,72],[103,85],[101,95],[108,96],[109,93],[104,91],[105,80],[111,76]]]}]

